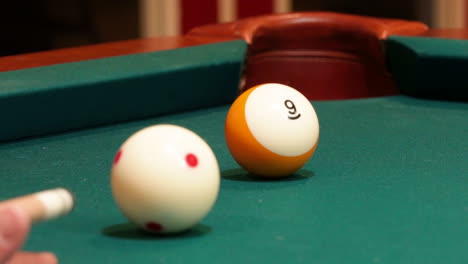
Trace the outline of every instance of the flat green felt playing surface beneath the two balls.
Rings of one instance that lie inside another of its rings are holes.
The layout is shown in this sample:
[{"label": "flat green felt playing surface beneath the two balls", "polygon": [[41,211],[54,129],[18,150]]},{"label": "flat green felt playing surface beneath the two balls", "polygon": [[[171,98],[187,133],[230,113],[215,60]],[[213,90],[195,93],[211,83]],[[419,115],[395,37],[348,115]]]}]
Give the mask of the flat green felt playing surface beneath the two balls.
[{"label": "flat green felt playing surface beneath the two balls", "polygon": [[[61,263],[468,263],[468,104],[408,97],[314,103],[318,150],[292,178],[249,178],[223,137],[227,106],[0,145],[0,199],[64,186],[71,215],[34,227],[26,249]],[[200,225],[150,236],[126,224],[109,170],[155,123],[188,127],[222,170]]]}]

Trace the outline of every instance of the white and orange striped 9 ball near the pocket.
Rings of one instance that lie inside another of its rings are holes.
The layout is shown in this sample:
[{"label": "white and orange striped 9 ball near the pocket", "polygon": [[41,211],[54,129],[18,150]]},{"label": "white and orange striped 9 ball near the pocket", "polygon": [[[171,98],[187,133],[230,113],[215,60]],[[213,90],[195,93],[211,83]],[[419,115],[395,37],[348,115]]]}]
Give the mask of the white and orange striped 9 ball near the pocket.
[{"label": "white and orange striped 9 ball near the pocket", "polygon": [[312,157],[319,122],[304,95],[286,85],[267,83],[235,100],[225,136],[229,151],[244,169],[262,177],[285,177]]}]

